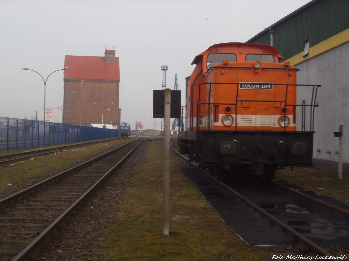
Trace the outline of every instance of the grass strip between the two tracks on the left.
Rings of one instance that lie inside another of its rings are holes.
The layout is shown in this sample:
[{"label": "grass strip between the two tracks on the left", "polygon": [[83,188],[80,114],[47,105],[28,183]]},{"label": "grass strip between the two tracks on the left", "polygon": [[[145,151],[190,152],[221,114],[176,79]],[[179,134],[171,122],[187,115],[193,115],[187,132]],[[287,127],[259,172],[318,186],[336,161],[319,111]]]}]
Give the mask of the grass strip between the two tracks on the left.
[{"label": "grass strip between the two tracks on the left", "polygon": [[33,157],[28,160],[18,161],[10,165],[0,166],[0,188],[8,184],[27,179],[32,176],[52,171],[73,163],[76,160],[101,153],[107,149],[118,147],[129,140],[118,140],[99,143],[87,147],[67,150],[67,159],[63,153],[59,153],[54,159],[54,153],[46,156]]}]

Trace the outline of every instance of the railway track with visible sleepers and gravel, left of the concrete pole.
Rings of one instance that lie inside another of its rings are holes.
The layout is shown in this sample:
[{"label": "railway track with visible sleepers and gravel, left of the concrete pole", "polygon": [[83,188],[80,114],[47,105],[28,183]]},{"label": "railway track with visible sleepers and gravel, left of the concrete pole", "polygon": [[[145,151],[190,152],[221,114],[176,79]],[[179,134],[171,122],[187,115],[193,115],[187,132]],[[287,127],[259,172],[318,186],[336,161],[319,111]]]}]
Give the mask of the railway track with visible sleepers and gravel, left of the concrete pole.
[{"label": "railway track with visible sleepers and gravel, left of the concrete pole", "polygon": [[143,141],[124,144],[0,200],[0,259],[34,256],[55,228]]}]

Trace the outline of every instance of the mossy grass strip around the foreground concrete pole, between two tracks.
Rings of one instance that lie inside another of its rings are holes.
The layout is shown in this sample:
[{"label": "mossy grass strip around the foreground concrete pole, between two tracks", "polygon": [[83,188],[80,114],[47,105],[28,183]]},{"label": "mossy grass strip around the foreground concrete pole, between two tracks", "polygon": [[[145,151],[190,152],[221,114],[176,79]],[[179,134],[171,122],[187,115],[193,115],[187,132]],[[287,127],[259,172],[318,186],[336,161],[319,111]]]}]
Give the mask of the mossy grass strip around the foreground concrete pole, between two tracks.
[{"label": "mossy grass strip around the foreground concrete pole, between two tracks", "polygon": [[[116,206],[115,225],[101,260],[270,260],[243,243],[220,219],[170,157],[170,236],[163,235],[163,141],[148,143],[146,161],[134,168]],[[147,169],[145,172],[144,169]],[[112,210],[111,210],[112,211]]]}]

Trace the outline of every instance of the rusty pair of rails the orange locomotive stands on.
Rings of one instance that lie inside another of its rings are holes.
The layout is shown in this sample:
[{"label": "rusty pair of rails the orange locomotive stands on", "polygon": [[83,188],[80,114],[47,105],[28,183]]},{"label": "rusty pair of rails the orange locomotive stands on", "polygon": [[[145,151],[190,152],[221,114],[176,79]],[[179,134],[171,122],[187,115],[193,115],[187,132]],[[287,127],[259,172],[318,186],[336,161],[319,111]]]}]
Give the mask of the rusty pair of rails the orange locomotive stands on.
[{"label": "rusty pair of rails the orange locomotive stands on", "polygon": [[[176,151],[173,146],[172,149],[174,151]],[[179,152],[176,151],[178,154]],[[179,154],[180,155],[180,154]],[[180,155],[181,157],[183,157],[184,159],[188,160],[184,155]],[[195,164],[193,164],[195,165]],[[195,165],[196,166],[196,165]],[[198,166],[196,166],[198,167]],[[198,167],[199,168],[199,167]],[[200,169],[200,168],[199,168]],[[202,171],[202,169],[200,169]],[[212,179],[215,179],[213,176],[211,176],[208,172],[205,172],[208,176],[210,176]],[[216,180],[216,179],[215,179]],[[304,236],[302,233],[296,231],[294,228],[292,228],[291,226],[289,226],[288,224],[286,224],[285,222],[281,221],[280,219],[277,219],[273,214],[270,214],[268,211],[266,211],[264,208],[262,208],[259,204],[254,203],[252,200],[248,199],[246,196],[244,196],[242,193],[238,192],[236,189],[231,188],[229,185],[223,183],[222,181],[216,180],[216,182],[218,182],[219,184],[221,184],[222,186],[224,186],[225,188],[227,188],[229,191],[231,191],[236,197],[240,198],[245,204],[247,204],[248,206],[250,206],[251,208],[253,208],[256,212],[260,213],[265,219],[269,220],[270,222],[272,222],[274,224],[274,226],[278,226],[280,227],[283,231],[285,231],[287,234],[289,235],[293,235],[296,237],[298,244],[297,246],[302,249],[304,252],[307,253],[307,255],[309,256],[332,256],[327,250],[325,250],[323,247],[320,247],[319,245],[315,244],[312,240],[310,240],[309,238],[307,238],[306,236]],[[303,197],[306,198],[308,200],[311,200],[312,202],[319,204],[320,206],[324,206],[326,208],[331,209],[334,212],[339,212],[343,215],[345,215],[346,217],[349,217],[349,212],[333,206],[331,204],[328,204],[322,200],[319,200],[317,198],[311,197],[309,195],[306,195],[302,192],[296,191],[294,189],[290,189],[288,187],[285,187],[284,185],[278,184],[278,183],[274,183],[275,186],[279,186],[285,190],[288,190],[292,193],[297,194],[299,197]],[[318,209],[317,209],[318,210]],[[321,211],[321,210],[318,210]]]}]

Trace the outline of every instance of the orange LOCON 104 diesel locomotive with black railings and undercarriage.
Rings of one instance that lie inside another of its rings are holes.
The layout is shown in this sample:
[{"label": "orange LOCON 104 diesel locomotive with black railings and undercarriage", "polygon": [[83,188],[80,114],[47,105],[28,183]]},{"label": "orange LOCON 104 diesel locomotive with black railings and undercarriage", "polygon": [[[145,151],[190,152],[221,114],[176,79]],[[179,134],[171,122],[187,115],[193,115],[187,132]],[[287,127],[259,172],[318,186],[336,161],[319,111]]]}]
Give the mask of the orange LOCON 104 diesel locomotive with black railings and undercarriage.
[{"label": "orange LOCON 104 diesel locomotive with black railings and undercarriage", "polygon": [[[279,63],[282,58],[276,48],[253,43],[216,44],[197,55],[192,62],[196,67],[186,78],[187,118],[186,130],[179,135],[180,153],[216,178],[252,173],[271,179],[278,168],[312,166],[319,85],[297,85],[298,69]],[[310,104],[297,104],[300,87],[310,88]]]}]

